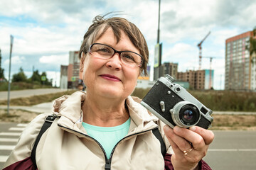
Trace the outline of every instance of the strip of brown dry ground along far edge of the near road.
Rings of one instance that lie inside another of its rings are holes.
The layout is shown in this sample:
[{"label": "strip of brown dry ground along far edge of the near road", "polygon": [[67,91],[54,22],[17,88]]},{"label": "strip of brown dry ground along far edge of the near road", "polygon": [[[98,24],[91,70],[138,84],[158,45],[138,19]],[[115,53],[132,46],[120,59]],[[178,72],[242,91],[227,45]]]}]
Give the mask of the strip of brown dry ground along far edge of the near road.
[{"label": "strip of brown dry ground along far edge of the near road", "polygon": [[[0,109],[1,122],[29,123],[39,113],[10,109]],[[256,130],[256,115],[212,115],[214,120],[210,130]]]}]

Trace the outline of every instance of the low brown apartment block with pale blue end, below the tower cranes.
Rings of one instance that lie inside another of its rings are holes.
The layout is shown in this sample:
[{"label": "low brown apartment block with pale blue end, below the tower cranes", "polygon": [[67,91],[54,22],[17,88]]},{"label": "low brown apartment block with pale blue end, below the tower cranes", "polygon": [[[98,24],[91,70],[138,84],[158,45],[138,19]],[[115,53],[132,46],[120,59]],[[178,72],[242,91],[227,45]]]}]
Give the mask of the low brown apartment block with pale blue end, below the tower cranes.
[{"label": "low brown apartment block with pale blue end, below the tower cranes", "polygon": [[178,80],[188,81],[190,89],[206,90],[213,88],[214,70],[189,70],[187,72],[178,72]]}]

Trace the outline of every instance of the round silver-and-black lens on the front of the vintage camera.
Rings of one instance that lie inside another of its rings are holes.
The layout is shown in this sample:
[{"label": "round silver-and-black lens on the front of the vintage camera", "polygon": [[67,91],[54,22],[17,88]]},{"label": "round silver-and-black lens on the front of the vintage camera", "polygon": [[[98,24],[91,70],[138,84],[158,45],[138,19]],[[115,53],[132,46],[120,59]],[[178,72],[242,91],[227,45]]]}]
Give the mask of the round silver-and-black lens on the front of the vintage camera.
[{"label": "round silver-and-black lens on the front of the vintage camera", "polygon": [[198,123],[200,111],[192,103],[181,101],[174,106],[171,117],[176,125],[188,128]]}]

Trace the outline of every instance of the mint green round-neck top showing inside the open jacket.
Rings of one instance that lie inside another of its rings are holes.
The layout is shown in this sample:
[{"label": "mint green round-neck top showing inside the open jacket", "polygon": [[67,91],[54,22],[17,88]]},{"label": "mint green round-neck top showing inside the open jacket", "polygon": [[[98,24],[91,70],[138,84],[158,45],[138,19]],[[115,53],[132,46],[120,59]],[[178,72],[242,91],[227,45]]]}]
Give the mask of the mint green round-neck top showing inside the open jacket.
[{"label": "mint green round-neck top showing inside the open jacket", "polygon": [[107,158],[110,158],[110,154],[114,146],[122,140],[128,134],[129,126],[131,123],[131,118],[129,118],[122,125],[114,127],[100,127],[95,125],[90,125],[82,122],[82,126],[85,128],[86,132],[90,137],[95,138],[100,145],[105,149]]}]

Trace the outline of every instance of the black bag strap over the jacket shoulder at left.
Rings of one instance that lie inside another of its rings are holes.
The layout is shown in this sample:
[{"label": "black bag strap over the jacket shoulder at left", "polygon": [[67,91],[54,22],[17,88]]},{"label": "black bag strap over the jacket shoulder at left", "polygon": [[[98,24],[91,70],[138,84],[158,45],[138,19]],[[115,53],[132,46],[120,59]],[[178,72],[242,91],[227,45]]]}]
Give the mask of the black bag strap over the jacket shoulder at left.
[{"label": "black bag strap over the jacket shoulder at left", "polygon": [[43,123],[43,126],[38,134],[38,136],[36,137],[36,142],[33,145],[33,149],[31,152],[31,160],[33,162],[33,166],[35,167],[35,169],[37,169],[37,165],[36,165],[36,147],[38,145],[38,142],[40,140],[40,138],[42,137],[43,133],[46,132],[46,130],[50,127],[50,125],[53,123],[53,120],[55,120],[55,118],[57,118],[56,115],[48,115],[45,119],[45,122]]}]

